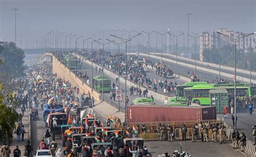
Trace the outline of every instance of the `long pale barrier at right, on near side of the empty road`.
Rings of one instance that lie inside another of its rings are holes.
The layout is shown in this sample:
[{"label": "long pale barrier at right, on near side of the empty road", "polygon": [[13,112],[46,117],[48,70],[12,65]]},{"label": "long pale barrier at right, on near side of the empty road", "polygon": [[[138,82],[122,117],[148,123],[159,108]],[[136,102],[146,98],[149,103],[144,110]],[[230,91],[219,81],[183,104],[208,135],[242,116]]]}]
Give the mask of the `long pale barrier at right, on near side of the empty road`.
[{"label": "long pale barrier at right, on near side of the empty road", "polygon": [[[148,56],[148,55],[147,55],[147,54],[140,53],[140,56]],[[151,58],[154,58],[154,59],[161,59],[161,57],[154,56],[154,55],[151,55],[151,54],[150,54],[149,56],[150,56]],[[166,62],[171,62],[171,63],[173,63],[173,64],[176,64],[176,60],[167,59],[167,58],[163,58],[163,60],[166,61]],[[187,64],[187,63],[182,63],[182,62],[178,62],[178,64],[181,65],[181,66],[185,66],[185,67],[194,66],[194,65]],[[197,67],[197,70],[204,71],[204,72],[207,72],[207,73],[212,73],[212,74],[217,74],[217,75],[219,75],[219,71],[217,71],[217,70],[211,70],[211,69],[208,69],[208,68],[205,68],[205,67],[200,67],[200,66],[198,66],[198,67]],[[220,76],[233,79],[234,74],[229,74],[229,73],[226,73],[226,72],[220,72]],[[244,82],[244,83],[250,83],[250,78],[237,76],[237,81],[241,81],[241,82]],[[256,83],[256,80],[255,80],[255,79],[252,79],[252,83]]]}]

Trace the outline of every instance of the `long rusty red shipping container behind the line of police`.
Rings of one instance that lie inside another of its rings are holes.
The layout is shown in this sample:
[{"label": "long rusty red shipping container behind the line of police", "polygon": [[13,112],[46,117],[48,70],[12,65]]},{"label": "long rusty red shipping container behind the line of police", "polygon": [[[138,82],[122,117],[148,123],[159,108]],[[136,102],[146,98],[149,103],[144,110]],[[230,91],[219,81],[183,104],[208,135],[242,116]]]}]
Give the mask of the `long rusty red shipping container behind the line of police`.
[{"label": "long rusty red shipping container behind the line of police", "polygon": [[127,106],[127,123],[160,121],[198,121],[215,120],[215,106]]}]

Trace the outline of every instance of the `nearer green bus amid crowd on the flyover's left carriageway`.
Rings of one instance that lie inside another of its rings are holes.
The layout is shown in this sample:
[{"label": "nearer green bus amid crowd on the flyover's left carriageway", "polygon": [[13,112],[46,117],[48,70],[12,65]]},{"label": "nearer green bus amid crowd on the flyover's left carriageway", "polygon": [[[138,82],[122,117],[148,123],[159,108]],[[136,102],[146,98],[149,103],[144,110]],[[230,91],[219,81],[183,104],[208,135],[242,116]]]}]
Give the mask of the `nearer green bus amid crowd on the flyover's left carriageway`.
[{"label": "nearer green bus amid crowd on the flyover's left carriageway", "polygon": [[111,91],[111,80],[106,76],[95,76],[92,78],[93,89],[98,92],[102,92],[102,81],[103,81],[103,91]]}]

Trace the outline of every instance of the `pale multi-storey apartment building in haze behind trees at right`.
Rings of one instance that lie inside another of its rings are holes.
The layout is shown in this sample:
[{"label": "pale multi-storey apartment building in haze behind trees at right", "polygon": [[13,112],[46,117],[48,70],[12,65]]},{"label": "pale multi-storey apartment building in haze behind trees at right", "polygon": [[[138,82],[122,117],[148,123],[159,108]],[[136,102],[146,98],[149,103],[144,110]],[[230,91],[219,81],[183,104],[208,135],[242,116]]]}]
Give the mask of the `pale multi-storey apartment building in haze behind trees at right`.
[{"label": "pale multi-storey apartment building in haze behind trees at right", "polygon": [[[244,53],[247,52],[247,49],[250,48],[250,46],[253,47],[253,50],[256,50],[256,38],[255,37],[244,37],[245,35],[248,35],[248,33],[242,33],[242,32],[234,32],[229,31],[226,28],[220,28],[217,32],[221,32],[224,35],[230,36],[231,38],[241,38],[237,41],[237,49],[241,49],[244,51]],[[216,31],[211,32],[202,32],[200,34],[200,44],[199,44],[199,54],[200,54],[200,60],[204,60],[203,51],[204,49],[213,49],[213,48],[221,48],[227,44],[233,44],[233,41],[220,35]]]}]

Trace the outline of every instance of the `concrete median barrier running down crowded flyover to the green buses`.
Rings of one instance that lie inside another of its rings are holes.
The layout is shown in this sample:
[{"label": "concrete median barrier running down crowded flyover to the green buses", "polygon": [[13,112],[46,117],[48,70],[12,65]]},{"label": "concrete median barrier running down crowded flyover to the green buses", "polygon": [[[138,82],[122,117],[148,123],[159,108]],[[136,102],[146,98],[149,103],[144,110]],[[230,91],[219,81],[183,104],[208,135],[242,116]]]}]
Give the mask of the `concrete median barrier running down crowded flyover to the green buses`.
[{"label": "concrete median barrier running down crowded flyover to the green buses", "polygon": [[[89,64],[89,65],[91,65],[92,64],[92,66],[93,67],[102,67],[102,66],[100,66],[100,65],[98,65],[98,64],[96,64],[96,63],[92,63],[90,60],[86,60],[86,59],[84,59],[84,57],[83,56],[80,56],[79,54],[76,54],[77,55],[77,57],[78,58],[83,58],[83,60],[84,60],[84,62],[85,63],[87,63],[87,64]],[[110,70],[107,70],[107,69],[104,69],[104,74],[106,74],[107,76],[109,76],[109,77],[111,77],[111,78],[113,78],[114,80],[118,77],[118,74],[116,74],[116,73],[114,73],[114,72],[111,72]],[[120,83],[125,83],[125,79],[123,78],[123,77],[121,77],[120,76]],[[164,94],[161,94],[161,93],[159,93],[159,92],[155,92],[155,91],[153,91],[153,90],[151,90],[150,88],[145,88],[145,87],[143,87],[143,86],[140,86],[139,84],[136,84],[136,83],[133,83],[132,81],[130,81],[130,80],[126,80],[126,85],[128,86],[128,87],[131,87],[131,86],[139,86],[141,89],[142,89],[142,91],[143,90],[145,90],[145,89],[147,89],[149,92],[147,93],[147,95],[153,95],[153,97],[154,97],[154,99],[156,99],[156,100],[159,100],[159,101],[163,101],[164,100],[164,97],[165,97],[165,95]]]}]

